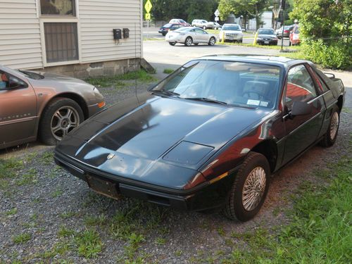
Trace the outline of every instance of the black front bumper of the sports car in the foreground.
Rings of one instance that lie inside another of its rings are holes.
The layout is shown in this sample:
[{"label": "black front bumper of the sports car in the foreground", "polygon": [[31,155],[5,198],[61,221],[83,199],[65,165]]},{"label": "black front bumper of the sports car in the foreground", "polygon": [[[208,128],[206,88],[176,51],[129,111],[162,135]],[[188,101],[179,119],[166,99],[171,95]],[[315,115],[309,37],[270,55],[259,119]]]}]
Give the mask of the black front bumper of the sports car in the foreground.
[{"label": "black front bumper of the sports car in the foreground", "polygon": [[[142,199],[161,206],[169,206],[177,210],[206,210],[223,206],[234,178],[232,173],[217,182],[203,182],[193,189],[170,189],[96,170],[79,161],[68,158],[58,151],[55,151],[54,160],[57,165],[88,184],[92,179],[96,179],[99,182],[106,182],[106,186],[114,188],[111,190],[112,193],[115,192],[123,196]],[[91,187],[90,184],[89,187]],[[97,190],[94,189],[94,191]],[[104,191],[98,192],[112,196]]]}]

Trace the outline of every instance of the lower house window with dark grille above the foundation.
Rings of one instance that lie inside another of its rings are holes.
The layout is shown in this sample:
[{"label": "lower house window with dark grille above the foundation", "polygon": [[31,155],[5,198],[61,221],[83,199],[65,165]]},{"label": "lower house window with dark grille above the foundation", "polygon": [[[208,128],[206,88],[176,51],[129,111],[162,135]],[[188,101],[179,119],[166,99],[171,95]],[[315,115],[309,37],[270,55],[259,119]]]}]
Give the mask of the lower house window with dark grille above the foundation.
[{"label": "lower house window with dark grille above the foundation", "polygon": [[77,23],[44,23],[46,62],[78,60]]}]

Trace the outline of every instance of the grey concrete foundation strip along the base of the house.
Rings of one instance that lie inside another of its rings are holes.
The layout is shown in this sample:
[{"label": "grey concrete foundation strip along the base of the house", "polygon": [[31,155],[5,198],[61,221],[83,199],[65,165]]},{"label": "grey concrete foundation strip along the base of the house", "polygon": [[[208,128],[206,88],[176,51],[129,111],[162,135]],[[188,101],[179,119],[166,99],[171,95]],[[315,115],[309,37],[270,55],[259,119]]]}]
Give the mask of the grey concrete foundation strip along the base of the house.
[{"label": "grey concrete foundation strip along the base of the house", "polygon": [[35,70],[85,79],[87,77],[121,75],[140,68],[141,58],[127,58],[118,61],[51,66]]}]

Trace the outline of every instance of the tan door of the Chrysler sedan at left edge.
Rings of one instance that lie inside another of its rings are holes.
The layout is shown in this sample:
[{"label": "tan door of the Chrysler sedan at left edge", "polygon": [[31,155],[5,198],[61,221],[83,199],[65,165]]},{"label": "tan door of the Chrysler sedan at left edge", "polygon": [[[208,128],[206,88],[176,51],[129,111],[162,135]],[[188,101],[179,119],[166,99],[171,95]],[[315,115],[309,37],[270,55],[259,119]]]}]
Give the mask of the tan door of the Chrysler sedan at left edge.
[{"label": "tan door of the Chrysler sedan at left edge", "polygon": [[35,136],[37,96],[24,80],[1,70],[0,77],[0,146],[17,144]]}]

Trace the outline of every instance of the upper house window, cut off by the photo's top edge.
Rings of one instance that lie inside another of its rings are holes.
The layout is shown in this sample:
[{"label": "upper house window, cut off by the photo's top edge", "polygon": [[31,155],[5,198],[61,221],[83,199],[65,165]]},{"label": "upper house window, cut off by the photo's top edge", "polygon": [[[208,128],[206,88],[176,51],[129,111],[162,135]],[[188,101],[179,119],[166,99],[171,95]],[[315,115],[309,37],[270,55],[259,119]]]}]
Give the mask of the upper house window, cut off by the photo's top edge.
[{"label": "upper house window, cut off by the photo's top edge", "polygon": [[75,0],[40,0],[42,15],[75,16]]}]

